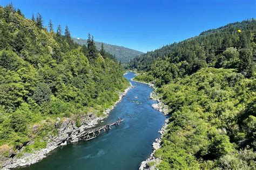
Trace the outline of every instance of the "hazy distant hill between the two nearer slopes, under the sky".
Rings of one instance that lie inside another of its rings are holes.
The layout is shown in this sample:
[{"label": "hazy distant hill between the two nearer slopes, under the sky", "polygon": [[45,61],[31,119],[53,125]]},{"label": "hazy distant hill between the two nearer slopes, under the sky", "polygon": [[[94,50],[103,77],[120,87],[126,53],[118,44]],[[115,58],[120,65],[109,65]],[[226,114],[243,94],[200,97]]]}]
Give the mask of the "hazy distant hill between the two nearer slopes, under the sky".
[{"label": "hazy distant hill between the two nearer slopes, under the sky", "polygon": [[[73,38],[73,40],[78,44],[87,45],[86,39],[77,40],[76,38]],[[97,49],[100,49],[100,45],[102,44],[102,42],[95,42],[95,44],[97,46]],[[129,60],[134,59],[136,56],[143,54],[143,52],[136,51],[134,49],[125,48],[117,45],[105,44],[105,43],[103,44],[104,44],[105,51],[109,52],[112,55],[115,55],[117,60],[123,63],[127,63],[129,62]]]}]

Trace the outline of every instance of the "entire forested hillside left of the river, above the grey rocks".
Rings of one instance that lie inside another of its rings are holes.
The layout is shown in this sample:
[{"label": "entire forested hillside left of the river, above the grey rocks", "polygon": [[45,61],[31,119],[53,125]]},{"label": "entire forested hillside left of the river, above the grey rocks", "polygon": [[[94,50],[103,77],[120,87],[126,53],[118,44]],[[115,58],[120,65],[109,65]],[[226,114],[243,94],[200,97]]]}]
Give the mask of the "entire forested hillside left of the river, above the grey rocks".
[{"label": "entire forested hillside left of the river, above the grey rocks", "polygon": [[129,86],[112,55],[88,42],[73,42],[68,26],[46,29],[39,13],[26,19],[0,6],[0,163],[25,145],[44,148],[57,117],[80,126],[80,116],[102,115]]}]

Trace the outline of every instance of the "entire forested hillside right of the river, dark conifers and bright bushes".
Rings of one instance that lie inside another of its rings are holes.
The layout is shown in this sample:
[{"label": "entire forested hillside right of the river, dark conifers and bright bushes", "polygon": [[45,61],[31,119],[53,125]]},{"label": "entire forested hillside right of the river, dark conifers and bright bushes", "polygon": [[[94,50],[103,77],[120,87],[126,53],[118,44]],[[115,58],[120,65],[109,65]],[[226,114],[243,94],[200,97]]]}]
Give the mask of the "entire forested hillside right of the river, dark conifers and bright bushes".
[{"label": "entire forested hillside right of the river, dark conifers and bright bushes", "polygon": [[158,168],[255,168],[255,33],[255,19],[228,24],[129,63],[169,106]]}]

